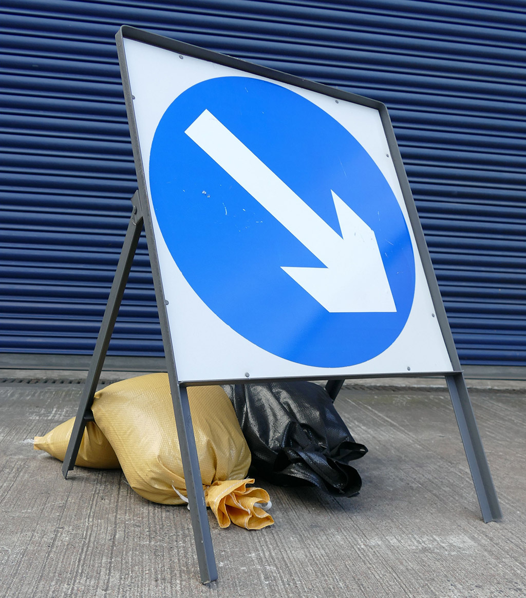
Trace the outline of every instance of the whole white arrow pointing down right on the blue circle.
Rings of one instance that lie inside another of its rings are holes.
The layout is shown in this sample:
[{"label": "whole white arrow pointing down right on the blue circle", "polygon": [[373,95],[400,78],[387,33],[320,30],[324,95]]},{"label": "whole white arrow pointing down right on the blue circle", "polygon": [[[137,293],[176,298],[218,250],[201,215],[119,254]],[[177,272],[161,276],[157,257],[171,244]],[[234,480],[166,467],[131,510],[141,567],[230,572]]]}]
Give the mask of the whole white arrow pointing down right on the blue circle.
[{"label": "whole white arrow pointing down right on the blue circle", "polygon": [[374,231],[334,191],[341,237],[208,110],[185,133],[327,266],[282,268],[328,312],[396,312]]}]

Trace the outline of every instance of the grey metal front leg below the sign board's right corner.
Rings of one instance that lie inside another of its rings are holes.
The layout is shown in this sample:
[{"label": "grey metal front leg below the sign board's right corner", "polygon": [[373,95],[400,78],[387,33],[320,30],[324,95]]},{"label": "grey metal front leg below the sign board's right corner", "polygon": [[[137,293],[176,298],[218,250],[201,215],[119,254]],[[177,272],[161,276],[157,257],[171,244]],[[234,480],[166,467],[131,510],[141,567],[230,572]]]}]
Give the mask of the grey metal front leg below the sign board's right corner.
[{"label": "grey metal front leg below the sign board's right corner", "polygon": [[479,499],[480,510],[485,523],[497,521],[502,518],[497,493],[489,471],[488,460],[484,453],[479,429],[475,421],[473,407],[467,392],[462,373],[448,374],[446,376],[449,395],[457,417],[458,429],[462,443],[464,443],[465,456],[471,469],[471,477]]}]

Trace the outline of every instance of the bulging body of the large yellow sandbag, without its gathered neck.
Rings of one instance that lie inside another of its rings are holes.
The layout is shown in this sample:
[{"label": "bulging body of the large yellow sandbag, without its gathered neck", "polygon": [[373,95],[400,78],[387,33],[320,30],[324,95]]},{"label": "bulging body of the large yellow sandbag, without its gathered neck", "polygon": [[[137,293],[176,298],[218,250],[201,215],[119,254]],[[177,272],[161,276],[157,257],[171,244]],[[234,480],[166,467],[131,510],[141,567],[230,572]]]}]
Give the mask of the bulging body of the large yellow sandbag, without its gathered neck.
[{"label": "bulging body of the large yellow sandbag, without its gathered neck", "polygon": [[[224,390],[191,387],[188,398],[203,486],[244,480],[250,450]],[[168,375],[107,386],[95,394],[92,411],[135,492],[153,502],[183,504],[186,485]]]}]

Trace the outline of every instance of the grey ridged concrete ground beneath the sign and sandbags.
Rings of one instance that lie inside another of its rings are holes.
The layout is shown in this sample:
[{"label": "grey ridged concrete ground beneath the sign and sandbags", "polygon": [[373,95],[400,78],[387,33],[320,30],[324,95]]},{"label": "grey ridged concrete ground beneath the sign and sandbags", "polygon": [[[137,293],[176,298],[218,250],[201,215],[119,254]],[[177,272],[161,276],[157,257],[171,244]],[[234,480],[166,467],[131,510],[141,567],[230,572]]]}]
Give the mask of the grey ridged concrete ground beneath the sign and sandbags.
[{"label": "grey ridged concrete ground beneath the sign and sandbags", "polygon": [[204,586],[185,507],[147,502],[120,471],[75,468],[64,480],[60,462],[33,450],[35,435],[75,414],[85,372],[0,370],[0,595],[526,596],[522,371],[468,378],[503,521],[480,517],[443,380],[354,381],[336,406],[369,449],[355,463],[360,495],[258,480],[276,523],[223,530],[210,515],[219,579]]}]

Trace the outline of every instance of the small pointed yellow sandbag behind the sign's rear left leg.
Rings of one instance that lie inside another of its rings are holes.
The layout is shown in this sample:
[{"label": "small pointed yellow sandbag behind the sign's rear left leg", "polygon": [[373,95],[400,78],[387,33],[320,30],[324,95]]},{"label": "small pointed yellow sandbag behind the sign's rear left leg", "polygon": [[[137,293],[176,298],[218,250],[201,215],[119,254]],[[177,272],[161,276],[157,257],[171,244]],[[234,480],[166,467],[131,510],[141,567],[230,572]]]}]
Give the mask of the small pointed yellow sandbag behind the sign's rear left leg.
[{"label": "small pointed yellow sandbag behind the sign's rear left leg", "polygon": [[[34,449],[45,450],[56,459],[64,461],[74,422],[75,418],[72,417],[67,422],[53,428],[45,436],[35,437]],[[115,451],[95,422],[86,423],[75,465],[96,469],[120,468]]]}]

